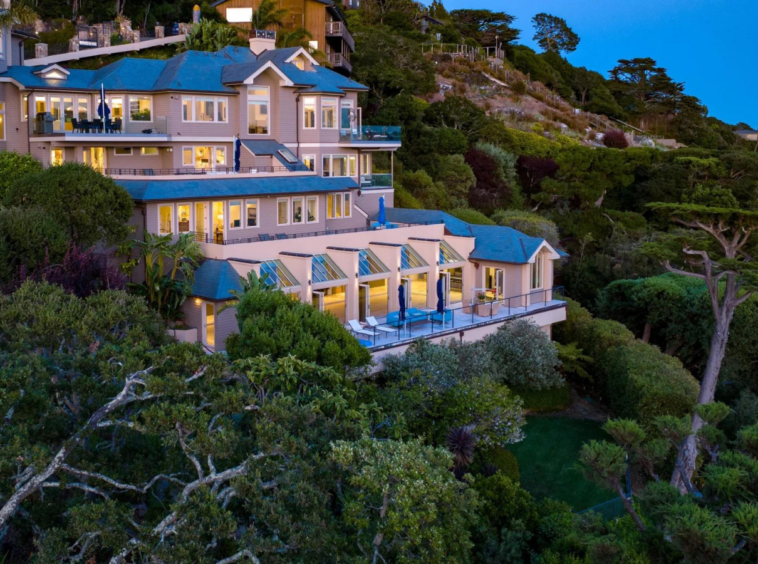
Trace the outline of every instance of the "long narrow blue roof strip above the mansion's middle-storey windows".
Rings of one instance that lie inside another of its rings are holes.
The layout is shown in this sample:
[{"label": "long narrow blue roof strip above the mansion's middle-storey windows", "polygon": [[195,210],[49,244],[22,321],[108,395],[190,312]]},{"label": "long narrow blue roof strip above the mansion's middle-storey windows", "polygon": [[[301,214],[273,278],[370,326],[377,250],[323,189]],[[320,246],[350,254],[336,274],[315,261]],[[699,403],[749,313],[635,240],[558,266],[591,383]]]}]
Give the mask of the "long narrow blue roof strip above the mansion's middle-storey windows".
[{"label": "long narrow blue roof strip above the mansion's middle-storey windows", "polygon": [[358,188],[350,178],[275,176],[270,178],[208,178],[197,180],[117,180],[132,199],[165,202],[195,198],[229,198],[334,192]]}]

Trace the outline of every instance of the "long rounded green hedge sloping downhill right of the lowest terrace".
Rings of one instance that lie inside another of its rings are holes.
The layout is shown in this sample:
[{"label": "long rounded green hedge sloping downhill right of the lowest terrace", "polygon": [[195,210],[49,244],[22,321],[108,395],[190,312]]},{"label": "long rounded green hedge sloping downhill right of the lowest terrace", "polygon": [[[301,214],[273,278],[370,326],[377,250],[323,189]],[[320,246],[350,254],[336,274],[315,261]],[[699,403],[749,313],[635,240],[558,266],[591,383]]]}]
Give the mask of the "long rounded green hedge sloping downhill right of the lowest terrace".
[{"label": "long rounded green hedge sloping downhill right of the lowest terrace", "polygon": [[592,385],[617,416],[646,424],[655,416],[682,416],[694,408],[697,380],[677,358],[635,339],[621,323],[595,319],[569,300],[561,325],[556,340],[578,343],[594,359],[588,367]]}]

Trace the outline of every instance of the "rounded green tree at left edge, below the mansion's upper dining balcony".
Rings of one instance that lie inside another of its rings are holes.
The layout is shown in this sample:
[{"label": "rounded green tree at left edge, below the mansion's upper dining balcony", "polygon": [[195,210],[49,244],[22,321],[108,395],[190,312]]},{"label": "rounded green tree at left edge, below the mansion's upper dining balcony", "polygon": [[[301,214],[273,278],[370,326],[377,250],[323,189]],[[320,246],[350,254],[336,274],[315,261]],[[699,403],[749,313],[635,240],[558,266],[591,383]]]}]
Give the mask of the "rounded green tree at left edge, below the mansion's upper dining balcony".
[{"label": "rounded green tree at left edge, below the mansion's upper dining balcony", "polygon": [[18,178],[8,188],[3,204],[44,210],[73,243],[85,247],[126,239],[134,207],[128,192],[112,178],[75,163]]}]

